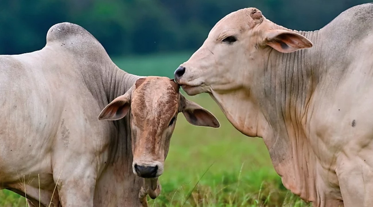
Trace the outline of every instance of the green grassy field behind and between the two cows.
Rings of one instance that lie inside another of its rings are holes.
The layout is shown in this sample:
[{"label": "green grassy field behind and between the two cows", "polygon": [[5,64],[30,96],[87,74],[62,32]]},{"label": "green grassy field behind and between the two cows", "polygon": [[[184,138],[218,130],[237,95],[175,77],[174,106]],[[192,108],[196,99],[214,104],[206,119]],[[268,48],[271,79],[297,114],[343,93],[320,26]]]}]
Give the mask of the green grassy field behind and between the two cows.
[{"label": "green grassy field behind and between the two cows", "polygon": [[[172,77],[189,55],[186,52],[113,60],[129,73]],[[310,206],[283,187],[261,138],[246,137],[235,130],[208,95],[186,98],[213,112],[221,127],[195,127],[179,114],[160,177],[162,193],[156,200],[149,198],[149,206]],[[0,206],[26,204],[23,197],[3,190]]]}]

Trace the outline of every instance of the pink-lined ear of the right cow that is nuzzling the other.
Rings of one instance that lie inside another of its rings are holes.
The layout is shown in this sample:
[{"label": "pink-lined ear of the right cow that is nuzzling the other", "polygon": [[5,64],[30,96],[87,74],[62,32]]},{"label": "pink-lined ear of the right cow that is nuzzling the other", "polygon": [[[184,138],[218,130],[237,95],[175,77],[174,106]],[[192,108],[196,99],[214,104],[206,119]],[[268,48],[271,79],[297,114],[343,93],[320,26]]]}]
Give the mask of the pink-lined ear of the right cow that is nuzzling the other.
[{"label": "pink-lined ear of the right cow that is nuzzling the other", "polygon": [[264,44],[284,53],[313,46],[312,42],[305,38],[305,36],[283,29],[269,29],[264,32]]}]

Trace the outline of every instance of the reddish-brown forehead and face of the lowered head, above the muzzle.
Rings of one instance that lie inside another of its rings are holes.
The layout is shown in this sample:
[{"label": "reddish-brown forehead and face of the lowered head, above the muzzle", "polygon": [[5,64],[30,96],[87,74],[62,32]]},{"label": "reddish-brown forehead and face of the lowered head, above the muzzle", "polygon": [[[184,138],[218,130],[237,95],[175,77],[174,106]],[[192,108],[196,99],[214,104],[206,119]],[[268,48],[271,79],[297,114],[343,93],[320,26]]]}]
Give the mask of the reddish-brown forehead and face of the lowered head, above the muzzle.
[{"label": "reddish-brown forehead and face of the lowered head, above the muzzle", "polygon": [[138,130],[134,156],[146,155],[163,162],[162,154],[168,151],[168,145],[162,135],[178,113],[179,85],[167,77],[153,76],[137,83],[131,102],[132,121]]}]

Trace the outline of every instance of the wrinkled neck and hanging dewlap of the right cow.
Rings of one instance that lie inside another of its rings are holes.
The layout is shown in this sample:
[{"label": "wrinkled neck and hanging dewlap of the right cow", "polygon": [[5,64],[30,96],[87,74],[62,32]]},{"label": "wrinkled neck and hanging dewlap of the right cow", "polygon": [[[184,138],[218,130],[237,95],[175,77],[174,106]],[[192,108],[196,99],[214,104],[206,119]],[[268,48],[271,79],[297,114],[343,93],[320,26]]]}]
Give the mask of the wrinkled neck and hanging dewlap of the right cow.
[{"label": "wrinkled neck and hanging dewlap of the right cow", "polygon": [[[319,31],[298,33],[314,47],[291,53],[266,47],[267,58],[261,58],[263,61],[254,69],[255,73],[250,73],[255,77],[242,78],[240,89],[228,92],[211,89],[210,95],[237,130],[263,138],[285,187],[306,201],[315,201],[316,158],[308,143],[307,118],[312,110],[309,106],[313,91],[323,73],[317,65],[321,43]],[[307,175],[304,169],[308,169]]]}]

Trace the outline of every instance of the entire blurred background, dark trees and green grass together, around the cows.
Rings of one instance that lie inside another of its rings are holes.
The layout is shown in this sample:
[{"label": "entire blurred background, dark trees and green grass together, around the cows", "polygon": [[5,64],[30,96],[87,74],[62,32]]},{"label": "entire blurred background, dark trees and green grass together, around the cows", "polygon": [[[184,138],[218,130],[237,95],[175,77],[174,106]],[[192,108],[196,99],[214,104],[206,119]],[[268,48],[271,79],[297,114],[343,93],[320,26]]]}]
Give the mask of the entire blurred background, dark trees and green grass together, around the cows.
[{"label": "entire blurred background, dark trees and green grass together, around the cows", "polygon": [[[1,0],[0,54],[40,50],[48,29],[71,22],[87,29],[123,70],[173,77],[214,24],[245,7],[289,29],[312,31],[365,0]],[[1,75],[1,71],[0,71]],[[205,94],[187,97],[213,112],[219,129],[193,127],[179,115],[150,206],[308,206],[288,192],[260,138],[246,137]],[[0,191],[0,206],[26,206]]]}]

